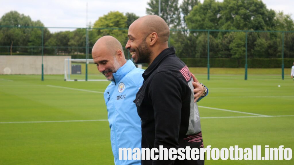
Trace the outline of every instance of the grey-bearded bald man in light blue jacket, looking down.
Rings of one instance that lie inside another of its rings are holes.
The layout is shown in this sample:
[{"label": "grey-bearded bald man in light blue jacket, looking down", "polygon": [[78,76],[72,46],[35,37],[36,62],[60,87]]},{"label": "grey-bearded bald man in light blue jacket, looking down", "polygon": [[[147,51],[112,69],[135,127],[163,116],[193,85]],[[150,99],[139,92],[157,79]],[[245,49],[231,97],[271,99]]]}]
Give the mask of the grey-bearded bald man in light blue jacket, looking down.
[{"label": "grey-bearded bald man in light blue jacket, looking down", "polygon": [[[133,100],[143,84],[143,69],[126,60],[121,43],[112,36],[98,39],[92,49],[97,69],[111,81],[104,92],[108,112],[111,148],[115,165],[141,165],[141,160],[119,160],[119,148],[141,149],[141,119]],[[195,98],[200,100],[203,87],[194,83]]]}]

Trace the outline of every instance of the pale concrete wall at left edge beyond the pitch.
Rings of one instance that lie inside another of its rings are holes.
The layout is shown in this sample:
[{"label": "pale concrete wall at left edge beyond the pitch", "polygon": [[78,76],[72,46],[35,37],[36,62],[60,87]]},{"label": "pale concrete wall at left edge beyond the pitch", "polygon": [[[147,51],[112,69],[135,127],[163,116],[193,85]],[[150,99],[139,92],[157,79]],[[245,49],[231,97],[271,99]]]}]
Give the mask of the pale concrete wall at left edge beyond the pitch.
[{"label": "pale concrete wall at left edge beyond the pitch", "polygon": [[[64,74],[64,59],[71,56],[44,55],[44,74]],[[36,55],[0,55],[0,74],[42,74],[42,56]]]}]

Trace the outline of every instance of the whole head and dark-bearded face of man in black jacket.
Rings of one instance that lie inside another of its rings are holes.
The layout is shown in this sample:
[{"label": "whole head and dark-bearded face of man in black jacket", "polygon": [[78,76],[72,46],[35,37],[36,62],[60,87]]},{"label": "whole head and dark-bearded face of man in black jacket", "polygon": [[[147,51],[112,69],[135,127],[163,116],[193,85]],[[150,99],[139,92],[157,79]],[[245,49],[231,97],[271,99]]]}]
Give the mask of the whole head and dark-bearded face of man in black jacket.
[{"label": "whole head and dark-bearded face of man in black jacket", "polygon": [[128,29],[126,49],[135,63],[148,63],[168,48],[169,27],[159,16],[147,15],[138,18]]}]

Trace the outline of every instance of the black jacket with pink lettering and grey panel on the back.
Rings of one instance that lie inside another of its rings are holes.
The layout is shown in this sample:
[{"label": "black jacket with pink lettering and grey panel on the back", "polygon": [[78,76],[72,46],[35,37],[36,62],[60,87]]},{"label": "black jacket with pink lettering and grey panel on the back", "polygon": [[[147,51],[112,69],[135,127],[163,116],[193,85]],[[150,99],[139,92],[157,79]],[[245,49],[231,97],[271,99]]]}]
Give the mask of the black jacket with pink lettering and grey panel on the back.
[{"label": "black jacket with pink lettering and grey panel on the back", "polygon": [[[194,103],[193,79],[185,63],[176,57],[175,49],[163,50],[144,71],[143,78],[134,100],[142,121],[142,148],[203,147],[202,136],[198,136],[201,125]],[[142,160],[142,165],[173,163],[187,164],[177,160]]]}]

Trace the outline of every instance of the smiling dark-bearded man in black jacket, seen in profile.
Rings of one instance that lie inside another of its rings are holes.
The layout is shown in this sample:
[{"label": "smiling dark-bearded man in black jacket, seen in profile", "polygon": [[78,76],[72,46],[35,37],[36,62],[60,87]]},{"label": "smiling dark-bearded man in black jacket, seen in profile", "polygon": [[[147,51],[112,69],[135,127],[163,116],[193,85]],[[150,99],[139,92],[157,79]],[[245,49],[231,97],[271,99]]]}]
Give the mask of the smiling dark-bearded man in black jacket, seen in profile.
[{"label": "smiling dark-bearded man in black jacket, seen in profile", "polygon": [[[128,30],[135,63],[148,63],[134,103],[142,124],[142,148],[203,148],[200,117],[194,102],[193,79],[175,49],[168,48],[169,27],[156,15],[134,21]],[[204,88],[204,87],[203,87]],[[203,92],[203,96],[206,95]],[[204,160],[142,160],[145,164],[204,164]]]}]

